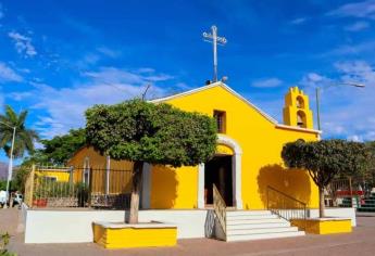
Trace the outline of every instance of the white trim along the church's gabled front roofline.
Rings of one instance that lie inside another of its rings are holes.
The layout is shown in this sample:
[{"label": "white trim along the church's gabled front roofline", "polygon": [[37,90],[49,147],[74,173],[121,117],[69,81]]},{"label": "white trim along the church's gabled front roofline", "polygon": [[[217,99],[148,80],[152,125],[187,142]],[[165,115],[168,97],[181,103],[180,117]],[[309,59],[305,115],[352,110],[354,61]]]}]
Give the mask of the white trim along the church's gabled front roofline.
[{"label": "white trim along the church's gabled front roofline", "polygon": [[173,94],[170,97],[164,97],[164,98],[160,98],[160,99],[155,99],[155,100],[151,100],[149,102],[152,103],[158,103],[158,102],[164,102],[164,101],[168,101],[168,100],[173,100],[176,98],[180,98],[180,97],[186,97],[186,95],[190,95],[193,94],[196,92],[200,92],[213,87],[220,86],[223,89],[227,90],[229,93],[232,93],[233,95],[237,97],[238,99],[240,99],[241,101],[243,101],[246,104],[248,104],[250,107],[254,108],[259,114],[261,114],[263,117],[265,117],[268,121],[271,121],[272,124],[274,124],[276,127],[279,128],[284,128],[284,129],[290,129],[290,130],[298,130],[298,131],[308,131],[308,132],[315,132],[315,133],[321,133],[322,131],[320,130],[314,130],[314,129],[305,129],[305,128],[300,128],[300,127],[293,127],[293,126],[286,126],[286,125],[280,125],[278,124],[278,121],[271,117],[270,115],[267,115],[266,113],[264,113],[261,108],[259,108],[258,106],[255,106],[254,104],[252,104],[250,101],[248,101],[247,99],[245,99],[241,94],[239,94],[238,92],[236,92],[235,90],[233,90],[230,87],[228,87],[227,85],[225,85],[222,81],[216,81],[216,82],[212,82],[208,86],[203,86],[203,87],[199,87],[189,91],[185,91],[182,93],[177,93],[177,94]]}]

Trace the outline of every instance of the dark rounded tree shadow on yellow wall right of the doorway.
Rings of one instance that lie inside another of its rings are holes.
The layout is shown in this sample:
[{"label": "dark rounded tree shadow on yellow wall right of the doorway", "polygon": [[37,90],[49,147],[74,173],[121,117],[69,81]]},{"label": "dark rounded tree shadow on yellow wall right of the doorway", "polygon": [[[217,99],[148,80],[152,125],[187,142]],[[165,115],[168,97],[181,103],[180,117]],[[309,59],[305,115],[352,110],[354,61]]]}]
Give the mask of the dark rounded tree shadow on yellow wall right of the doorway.
[{"label": "dark rounded tree shadow on yellow wall right of the doorway", "polygon": [[311,181],[308,171],[286,169],[280,165],[267,165],[260,169],[258,192],[264,208],[267,207],[267,185],[271,185],[305,204],[311,199]]}]

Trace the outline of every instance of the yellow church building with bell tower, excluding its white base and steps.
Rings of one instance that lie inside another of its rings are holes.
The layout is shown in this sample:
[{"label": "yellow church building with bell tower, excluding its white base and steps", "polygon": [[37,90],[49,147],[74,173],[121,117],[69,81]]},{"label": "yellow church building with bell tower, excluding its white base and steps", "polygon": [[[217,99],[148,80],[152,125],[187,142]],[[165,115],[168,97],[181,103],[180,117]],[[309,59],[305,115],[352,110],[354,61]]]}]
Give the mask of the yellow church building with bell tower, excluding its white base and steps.
[{"label": "yellow church building with bell tower, excluding its white base and steps", "polygon": [[[218,140],[214,157],[199,166],[146,165],[141,208],[210,208],[213,184],[226,206],[233,209],[265,209],[268,187],[305,203],[309,208],[318,207],[318,190],[308,172],[286,169],[280,157],[287,142],[320,139],[321,132],[313,129],[309,98],[297,87],[290,88],[285,95],[284,124],[278,124],[221,81],[151,102],[213,116]],[[132,163],[112,161],[92,148],[78,151],[68,165],[132,169]],[[108,179],[116,177],[112,175]],[[130,192],[130,188],[128,178],[121,192]]]}]

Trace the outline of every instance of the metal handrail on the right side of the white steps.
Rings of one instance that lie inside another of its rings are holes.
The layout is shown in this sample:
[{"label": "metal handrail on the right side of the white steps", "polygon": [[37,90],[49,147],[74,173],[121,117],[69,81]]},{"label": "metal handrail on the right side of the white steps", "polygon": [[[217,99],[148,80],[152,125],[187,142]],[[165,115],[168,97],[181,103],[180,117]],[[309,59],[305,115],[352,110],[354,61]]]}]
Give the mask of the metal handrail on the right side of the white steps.
[{"label": "metal handrail on the right side of the white steps", "polygon": [[307,204],[271,185],[267,185],[267,209],[288,221],[302,219],[307,222]]}]

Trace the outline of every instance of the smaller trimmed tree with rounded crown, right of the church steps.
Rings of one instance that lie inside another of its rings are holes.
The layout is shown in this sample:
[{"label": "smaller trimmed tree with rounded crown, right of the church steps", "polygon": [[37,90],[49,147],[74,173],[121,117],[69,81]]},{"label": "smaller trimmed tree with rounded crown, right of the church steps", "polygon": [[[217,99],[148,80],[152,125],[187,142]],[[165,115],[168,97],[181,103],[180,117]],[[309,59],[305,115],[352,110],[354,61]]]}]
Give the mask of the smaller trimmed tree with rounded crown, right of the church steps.
[{"label": "smaller trimmed tree with rounded crown, right of the church steps", "polygon": [[298,140],[284,145],[282,157],[289,168],[307,169],[318,187],[320,217],[324,217],[324,189],[337,175],[361,174],[368,162],[368,149],[345,140]]}]

